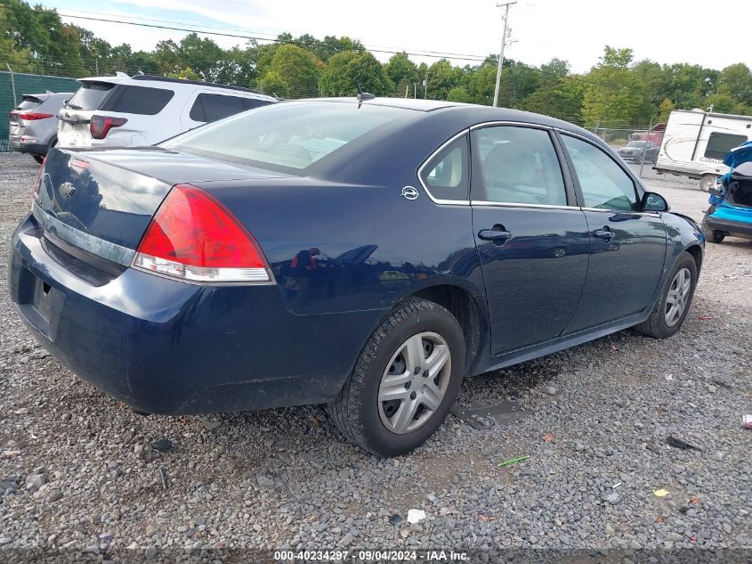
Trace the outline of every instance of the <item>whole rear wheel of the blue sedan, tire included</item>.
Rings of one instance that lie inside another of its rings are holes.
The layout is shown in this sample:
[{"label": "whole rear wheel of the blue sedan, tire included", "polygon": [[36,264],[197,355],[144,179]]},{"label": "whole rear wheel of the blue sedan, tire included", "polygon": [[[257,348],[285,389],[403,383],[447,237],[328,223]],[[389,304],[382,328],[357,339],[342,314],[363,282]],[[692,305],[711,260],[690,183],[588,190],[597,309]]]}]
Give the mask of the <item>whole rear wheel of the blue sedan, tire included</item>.
[{"label": "whole rear wheel of the blue sedan, tire included", "polygon": [[409,298],[368,339],[328,412],[368,452],[408,454],[441,427],[464,372],[457,319],[438,304]]}]

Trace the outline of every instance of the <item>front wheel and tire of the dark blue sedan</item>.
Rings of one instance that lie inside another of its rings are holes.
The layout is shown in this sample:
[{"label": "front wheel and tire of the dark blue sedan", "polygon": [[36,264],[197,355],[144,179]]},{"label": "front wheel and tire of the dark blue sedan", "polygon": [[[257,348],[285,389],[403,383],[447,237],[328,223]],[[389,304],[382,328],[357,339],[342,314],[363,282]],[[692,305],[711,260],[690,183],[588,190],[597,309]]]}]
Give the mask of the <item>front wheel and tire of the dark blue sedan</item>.
[{"label": "front wheel and tire of the dark blue sedan", "polygon": [[681,329],[690,311],[696,286],[697,264],[691,254],[683,252],[668,274],[651,315],[643,323],[635,325],[635,330],[654,339],[667,339],[674,335]]}]

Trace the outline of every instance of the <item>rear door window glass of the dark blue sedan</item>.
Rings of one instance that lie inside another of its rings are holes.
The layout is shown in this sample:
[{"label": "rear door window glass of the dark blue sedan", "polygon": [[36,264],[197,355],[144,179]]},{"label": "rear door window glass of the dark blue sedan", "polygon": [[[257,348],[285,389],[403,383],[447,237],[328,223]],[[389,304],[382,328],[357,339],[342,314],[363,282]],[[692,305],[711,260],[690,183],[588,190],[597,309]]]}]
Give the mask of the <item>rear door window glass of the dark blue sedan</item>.
[{"label": "rear door window glass of the dark blue sedan", "polygon": [[480,160],[486,192],[473,195],[473,200],[567,205],[562,168],[548,132],[531,127],[483,127],[473,131],[473,151]]}]

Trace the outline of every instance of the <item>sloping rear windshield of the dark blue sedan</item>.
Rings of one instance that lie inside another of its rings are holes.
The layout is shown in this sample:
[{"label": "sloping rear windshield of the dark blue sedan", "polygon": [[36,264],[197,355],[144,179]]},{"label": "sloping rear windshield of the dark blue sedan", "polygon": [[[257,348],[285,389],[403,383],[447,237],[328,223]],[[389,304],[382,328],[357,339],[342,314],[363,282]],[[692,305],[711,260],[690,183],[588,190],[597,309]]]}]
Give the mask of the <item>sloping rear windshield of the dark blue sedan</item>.
[{"label": "sloping rear windshield of the dark blue sedan", "polygon": [[414,113],[372,104],[359,109],[350,102],[281,102],[198,127],[162,146],[295,172]]}]

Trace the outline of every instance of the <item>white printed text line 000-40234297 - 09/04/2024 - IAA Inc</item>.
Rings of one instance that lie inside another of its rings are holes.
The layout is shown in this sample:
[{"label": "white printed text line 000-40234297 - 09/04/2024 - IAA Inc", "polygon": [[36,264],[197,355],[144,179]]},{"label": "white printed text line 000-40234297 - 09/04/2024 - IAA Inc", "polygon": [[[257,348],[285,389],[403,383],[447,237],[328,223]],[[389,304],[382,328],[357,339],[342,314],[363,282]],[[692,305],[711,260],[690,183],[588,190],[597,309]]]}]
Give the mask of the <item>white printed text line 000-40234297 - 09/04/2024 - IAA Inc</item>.
[{"label": "white printed text line 000-40234297 - 09/04/2024 - IAA Inc", "polygon": [[274,560],[293,562],[296,560],[330,562],[465,562],[466,552],[454,551],[275,551]]}]

